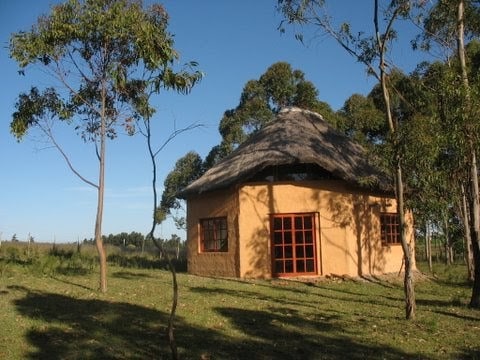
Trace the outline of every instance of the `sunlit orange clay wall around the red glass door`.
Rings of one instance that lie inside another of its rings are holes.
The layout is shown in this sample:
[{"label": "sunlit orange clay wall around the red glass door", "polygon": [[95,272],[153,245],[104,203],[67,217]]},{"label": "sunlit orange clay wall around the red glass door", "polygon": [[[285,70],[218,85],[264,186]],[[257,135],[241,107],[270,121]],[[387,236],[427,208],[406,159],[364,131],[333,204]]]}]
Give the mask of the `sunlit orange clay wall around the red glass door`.
[{"label": "sunlit orange clay wall around the red glass door", "polygon": [[[384,246],[380,212],[396,212],[395,200],[365,195],[338,181],[258,184],[239,188],[240,277],[270,277],[270,214],[316,213],[318,275],[398,272],[401,245]],[[413,246],[411,214],[408,239]]]}]

